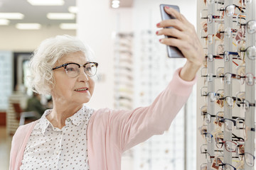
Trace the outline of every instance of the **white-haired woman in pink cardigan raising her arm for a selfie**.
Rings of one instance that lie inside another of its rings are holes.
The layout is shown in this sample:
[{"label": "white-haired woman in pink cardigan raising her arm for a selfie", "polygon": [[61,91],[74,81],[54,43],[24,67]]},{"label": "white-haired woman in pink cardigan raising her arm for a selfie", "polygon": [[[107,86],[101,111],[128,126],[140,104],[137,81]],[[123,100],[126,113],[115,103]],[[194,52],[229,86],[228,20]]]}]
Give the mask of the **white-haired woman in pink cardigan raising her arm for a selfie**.
[{"label": "white-haired woman in pink cardigan raising her arm for a selfie", "polygon": [[[41,43],[31,59],[31,85],[51,94],[53,109],[16,131],[10,169],[121,169],[122,153],[152,135],[163,134],[191,94],[203,50],[191,23],[172,8],[176,20],[161,21],[160,42],[178,47],[187,62],[150,106],[132,111],[94,110],[92,97],[98,64],[80,40],[68,35]],[[166,28],[173,26],[174,28]]]}]

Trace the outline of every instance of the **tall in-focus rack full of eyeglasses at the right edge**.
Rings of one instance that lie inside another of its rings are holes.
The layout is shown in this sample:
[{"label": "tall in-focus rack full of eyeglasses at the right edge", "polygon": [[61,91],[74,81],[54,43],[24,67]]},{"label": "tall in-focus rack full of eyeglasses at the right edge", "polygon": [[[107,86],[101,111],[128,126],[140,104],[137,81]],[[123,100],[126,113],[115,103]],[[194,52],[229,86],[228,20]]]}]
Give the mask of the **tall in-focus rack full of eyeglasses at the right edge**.
[{"label": "tall in-focus rack full of eyeglasses at the right edge", "polygon": [[[199,0],[198,0],[199,1]],[[201,170],[255,169],[255,1],[204,0]]]}]

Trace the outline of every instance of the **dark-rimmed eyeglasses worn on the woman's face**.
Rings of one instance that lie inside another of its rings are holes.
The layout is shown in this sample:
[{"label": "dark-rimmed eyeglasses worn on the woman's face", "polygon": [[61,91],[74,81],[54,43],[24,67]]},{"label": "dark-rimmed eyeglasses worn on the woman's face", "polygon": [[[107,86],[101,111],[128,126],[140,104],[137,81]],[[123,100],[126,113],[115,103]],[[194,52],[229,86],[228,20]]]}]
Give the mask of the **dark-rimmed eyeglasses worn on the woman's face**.
[{"label": "dark-rimmed eyeglasses worn on the woman's face", "polygon": [[68,77],[74,78],[79,75],[80,67],[84,67],[85,74],[87,74],[87,76],[89,76],[89,77],[92,77],[92,76],[95,76],[95,74],[97,72],[97,66],[98,66],[97,62],[87,62],[83,65],[80,65],[80,64],[77,64],[74,62],[70,62],[70,63],[62,64],[58,67],[55,67],[55,68],[53,68],[53,70],[64,67],[65,72],[68,75]]}]

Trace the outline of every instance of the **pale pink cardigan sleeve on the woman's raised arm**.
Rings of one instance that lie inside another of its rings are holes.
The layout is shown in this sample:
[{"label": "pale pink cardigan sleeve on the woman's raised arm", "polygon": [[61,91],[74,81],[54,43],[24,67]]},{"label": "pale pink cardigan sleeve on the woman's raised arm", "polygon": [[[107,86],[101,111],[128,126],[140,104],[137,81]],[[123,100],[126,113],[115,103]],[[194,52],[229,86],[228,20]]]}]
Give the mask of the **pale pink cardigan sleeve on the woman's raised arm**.
[{"label": "pale pink cardigan sleeve on the woman's raised arm", "polygon": [[184,81],[179,77],[181,69],[177,69],[174,77],[164,91],[147,107],[135,108],[132,111],[108,111],[107,138],[116,144],[119,152],[144,142],[152,135],[163,134],[168,130],[190,96],[193,81]]}]

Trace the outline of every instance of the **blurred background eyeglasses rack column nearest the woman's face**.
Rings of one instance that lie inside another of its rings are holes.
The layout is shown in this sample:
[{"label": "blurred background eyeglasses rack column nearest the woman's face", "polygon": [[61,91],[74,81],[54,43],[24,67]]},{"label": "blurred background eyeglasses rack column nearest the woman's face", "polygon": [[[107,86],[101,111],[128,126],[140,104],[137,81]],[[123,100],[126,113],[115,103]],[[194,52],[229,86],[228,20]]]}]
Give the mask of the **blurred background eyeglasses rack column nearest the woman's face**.
[{"label": "blurred background eyeglasses rack column nearest the woman's face", "polygon": [[132,109],[132,33],[118,33],[114,50],[114,108]]}]

